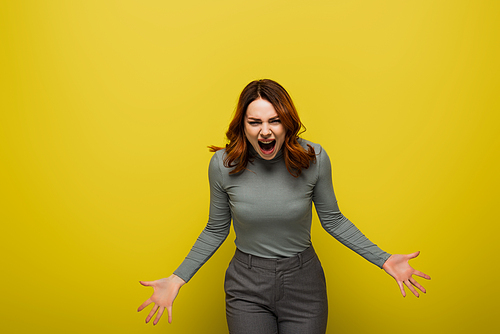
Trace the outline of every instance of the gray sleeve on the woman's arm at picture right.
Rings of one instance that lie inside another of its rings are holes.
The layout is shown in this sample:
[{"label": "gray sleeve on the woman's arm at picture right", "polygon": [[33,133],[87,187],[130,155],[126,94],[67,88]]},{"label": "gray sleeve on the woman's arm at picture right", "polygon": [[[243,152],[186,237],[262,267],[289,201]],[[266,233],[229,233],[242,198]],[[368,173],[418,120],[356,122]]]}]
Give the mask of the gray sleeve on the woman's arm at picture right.
[{"label": "gray sleeve on the woman's arm at picture right", "polygon": [[314,187],[313,201],[321,225],[344,246],[382,268],[384,262],[391,254],[384,252],[376,244],[371,242],[340,212],[333,191],[330,158],[322,147],[320,147],[320,150],[320,154],[317,156],[319,171],[318,179]]}]

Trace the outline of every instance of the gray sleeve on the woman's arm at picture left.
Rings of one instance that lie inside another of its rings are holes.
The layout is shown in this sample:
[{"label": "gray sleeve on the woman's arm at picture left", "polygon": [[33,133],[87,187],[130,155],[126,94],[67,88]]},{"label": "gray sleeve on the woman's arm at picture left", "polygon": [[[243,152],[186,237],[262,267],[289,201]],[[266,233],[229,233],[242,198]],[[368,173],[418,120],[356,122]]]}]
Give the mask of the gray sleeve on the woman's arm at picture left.
[{"label": "gray sleeve on the woman's arm at picture left", "polygon": [[210,213],[208,223],[174,274],[188,282],[226,240],[231,226],[228,195],[223,188],[223,177],[218,154],[214,154],[208,168],[210,181]]}]

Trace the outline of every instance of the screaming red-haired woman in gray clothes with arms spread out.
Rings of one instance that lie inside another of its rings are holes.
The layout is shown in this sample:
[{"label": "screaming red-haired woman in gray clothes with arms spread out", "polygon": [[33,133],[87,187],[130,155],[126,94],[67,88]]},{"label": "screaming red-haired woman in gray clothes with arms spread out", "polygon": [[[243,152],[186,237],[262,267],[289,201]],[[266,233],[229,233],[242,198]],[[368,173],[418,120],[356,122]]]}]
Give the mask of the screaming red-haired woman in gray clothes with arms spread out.
[{"label": "screaming red-haired woman in gray clothes with arms spread out", "polygon": [[155,303],[146,318],[172,303],[182,285],[212,256],[229,234],[231,219],[236,253],[226,271],[229,332],[325,333],[328,303],[321,264],[310,240],[312,202],[323,228],[419,296],[425,289],[408,260],[417,253],[391,255],[368,240],[342,215],[332,186],[330,159],[318,144],[298,137],[303,127],[286,90],[272,80],[248,84],[240,95],[226,133],[225,149],[209,167],[210,214],[183,263],[168,278],[141,282],[154,288],[138,309]]}]

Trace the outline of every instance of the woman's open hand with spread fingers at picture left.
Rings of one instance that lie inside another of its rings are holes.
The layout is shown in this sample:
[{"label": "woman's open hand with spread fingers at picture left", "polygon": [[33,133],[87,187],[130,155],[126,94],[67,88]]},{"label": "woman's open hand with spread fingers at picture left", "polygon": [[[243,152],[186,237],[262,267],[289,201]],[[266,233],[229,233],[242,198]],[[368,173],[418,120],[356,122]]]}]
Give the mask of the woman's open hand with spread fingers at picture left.
[{"label": "woman's open hand with spread fingers at picture left", "polygon": [[186,282],[177,275],[171,275],[170,277],[162,278],[156,281],[139,281],[139,283],[144,286],[152,286],[154,289],[153,295],[137,309],[137,312],[139,312],[149,304],[155,303],[151,312],[149,312],[146,317],[146,323],[148,323],[155,315],[156,311],[158,311],[158,314],[153,321],[153,325],[156,325],[158,321],[160,321],[165,308],[167,308],[168,312],[168,322],[172,323],[172,304],[174,303],[175,297],[177,297],[177,294],[179,293],[179,289],[186,284]]}]

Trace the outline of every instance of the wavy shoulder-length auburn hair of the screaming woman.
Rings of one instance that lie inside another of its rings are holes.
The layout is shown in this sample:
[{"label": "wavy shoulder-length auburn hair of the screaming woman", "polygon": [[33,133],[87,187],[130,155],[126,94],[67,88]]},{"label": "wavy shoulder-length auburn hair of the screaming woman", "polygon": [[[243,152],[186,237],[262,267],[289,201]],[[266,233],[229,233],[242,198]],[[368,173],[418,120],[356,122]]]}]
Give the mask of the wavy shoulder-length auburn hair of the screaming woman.
[{"label": "wavy shoulder-length auburn hair of the screaming woman", "polygon": [[[245,135],[245,114],[248,105],[257,99],[271,103],[285,128],[285,141],[283,143],[283,158],[288,172],[298,177],[303,168],[309,168],[311,162],[316,162],[316,154],[311,145],[306,151],[299,143],[298,136],[304,132],[305,126],[300,121],[299,115],[288,92],[276,81],[269,79],[250,82],[241,92],[236,107],[234,118],[226,132],[229,144],[226,144],[226,157],[224,166],[235,167],[229,174],[236,174],[246,169],[248,162],[253,158],[249,152],[249,143]],[[299,133],[299,131],[303,129]],[[222,147],[208,146],[211,152],[221,150]]]}]

